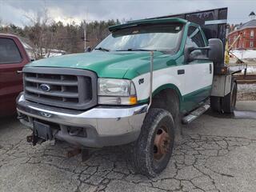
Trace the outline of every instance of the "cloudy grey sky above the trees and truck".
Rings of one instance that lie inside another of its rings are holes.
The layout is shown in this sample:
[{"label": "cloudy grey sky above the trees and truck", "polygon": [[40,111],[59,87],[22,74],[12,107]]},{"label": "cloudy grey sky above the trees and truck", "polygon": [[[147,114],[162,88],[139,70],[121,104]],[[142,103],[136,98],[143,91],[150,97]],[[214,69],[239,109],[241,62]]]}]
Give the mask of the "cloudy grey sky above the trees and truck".
[{"label": "cloudy grey sky above the trees and truck", "polygon": [[68,23],[149,18],[193,10],[228,7],[228,22],[247,22],[256,13],[256,0],[0,0],[0,19],[6,24],[29,25],[25,15],[42,12],[46,7],[54,21]]}]

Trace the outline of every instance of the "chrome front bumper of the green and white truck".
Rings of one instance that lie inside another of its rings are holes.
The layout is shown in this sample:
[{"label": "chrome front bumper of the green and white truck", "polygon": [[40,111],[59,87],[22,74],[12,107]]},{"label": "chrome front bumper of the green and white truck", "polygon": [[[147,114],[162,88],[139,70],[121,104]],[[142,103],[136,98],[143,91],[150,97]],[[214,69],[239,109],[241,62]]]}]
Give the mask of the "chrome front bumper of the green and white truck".
[{"label": "chrome front bumper of the green and white truck", "polygon": [[[76,146],[117,146],[137,140],[148,105],[133,107],[97,106],[87,111],[64,110],[17,98],[18,114],[27,117],[20,121],[33,129],[33,121],[41,120],[58,125],[54,138]],[[86,130],[86,137],[69,133],[69,127]]]}]

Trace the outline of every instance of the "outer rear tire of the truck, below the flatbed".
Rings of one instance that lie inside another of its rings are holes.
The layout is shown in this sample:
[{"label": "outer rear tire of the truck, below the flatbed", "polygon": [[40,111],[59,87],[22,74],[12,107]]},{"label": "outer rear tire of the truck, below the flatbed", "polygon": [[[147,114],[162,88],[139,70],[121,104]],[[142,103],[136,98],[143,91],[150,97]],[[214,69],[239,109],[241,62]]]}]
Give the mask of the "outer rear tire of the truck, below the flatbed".
[{"label": "outer rear tire of the truck, below the flatbed", "polygon": [[234,108],[237,102],[238,85],[234,80],[231,84],[230,94],[227,94],[222,101],[222,110],[225,113],[234,113]]}]

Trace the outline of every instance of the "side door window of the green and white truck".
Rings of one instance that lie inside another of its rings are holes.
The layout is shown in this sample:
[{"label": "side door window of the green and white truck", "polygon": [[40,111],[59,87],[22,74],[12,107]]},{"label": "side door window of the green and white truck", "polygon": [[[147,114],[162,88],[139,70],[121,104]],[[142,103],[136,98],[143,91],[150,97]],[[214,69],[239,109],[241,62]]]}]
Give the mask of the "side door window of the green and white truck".
[{"label": "side door window of the green and white truck", "polygon": [[[204,39],[202,38],[202,33],[198,29],[198,27],[190,26],[187,38],[186,38],[186,46],[193,46],[193,47],[204,47],[206,46],[206,43],[204,42]],[[194,56],[198,55],[205,55],[206,50],[194,50],[192,53]]]}]

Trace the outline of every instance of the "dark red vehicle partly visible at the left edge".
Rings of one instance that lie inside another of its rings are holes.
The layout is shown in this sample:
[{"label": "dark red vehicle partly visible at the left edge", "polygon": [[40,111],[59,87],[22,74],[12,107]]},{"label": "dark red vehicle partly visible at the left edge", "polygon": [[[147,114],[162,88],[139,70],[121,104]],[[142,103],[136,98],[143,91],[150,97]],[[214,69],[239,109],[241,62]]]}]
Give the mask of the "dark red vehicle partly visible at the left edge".
[{"label": "dark red vehicle partly visible at the left edge", "polygon": [[22,91],[22,67],[30,62],[22,42],[12,34],[0,34],[0,116],[15,114]]}]

